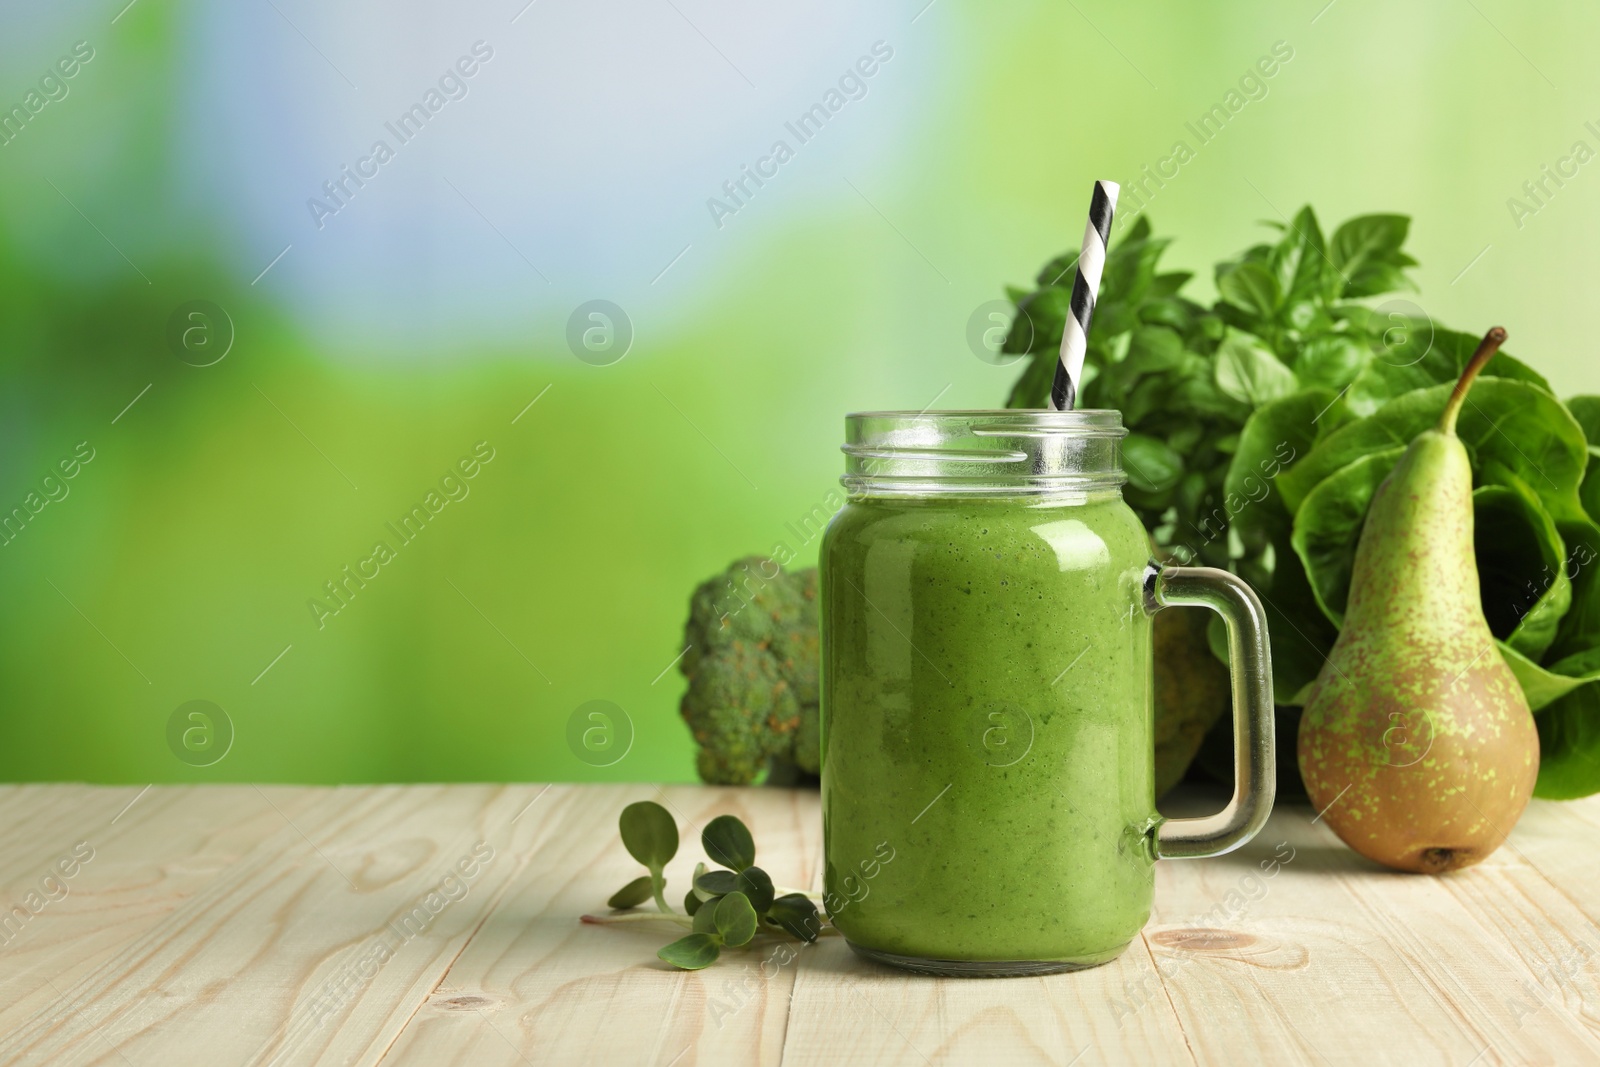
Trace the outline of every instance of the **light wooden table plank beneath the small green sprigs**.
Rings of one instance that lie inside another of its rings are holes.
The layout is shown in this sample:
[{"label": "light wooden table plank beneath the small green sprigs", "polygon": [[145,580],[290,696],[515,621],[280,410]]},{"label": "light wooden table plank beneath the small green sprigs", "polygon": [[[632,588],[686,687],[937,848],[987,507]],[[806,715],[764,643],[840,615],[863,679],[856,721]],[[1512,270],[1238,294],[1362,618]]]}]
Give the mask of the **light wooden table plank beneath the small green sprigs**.
[{"label": "light wooden table plank beneath the small green sprigs", "polygon": [[779,789],[586,787],[544,813],[558,830],[506,894],[386,1064],[778,1064],[795,965],[758,974],[760,955],[730,952],[694,974],[656,960],[682,933],[667,923],[579,925],[642,873],[616,817],[634,800],[677,813],[682,843],[667,897],[682,907],[704,856],[699,829],[731,813],[750,825],[757,862],[781,885],[818,885],[814,792]]}]

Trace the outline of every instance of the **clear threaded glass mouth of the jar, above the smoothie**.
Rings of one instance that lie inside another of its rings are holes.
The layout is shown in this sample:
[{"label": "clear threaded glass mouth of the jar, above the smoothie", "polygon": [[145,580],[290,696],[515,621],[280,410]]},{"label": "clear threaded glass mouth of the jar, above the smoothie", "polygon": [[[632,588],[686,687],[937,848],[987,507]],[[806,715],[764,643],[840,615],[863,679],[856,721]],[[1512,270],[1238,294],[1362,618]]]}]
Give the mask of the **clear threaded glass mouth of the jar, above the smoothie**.
[{"label": "clear threaded glass mouth of the jar, above the smoothie", "polygon": [[858,411],[840,482],[864,496],[1115,491],[1126,435],[1109,410]]}]

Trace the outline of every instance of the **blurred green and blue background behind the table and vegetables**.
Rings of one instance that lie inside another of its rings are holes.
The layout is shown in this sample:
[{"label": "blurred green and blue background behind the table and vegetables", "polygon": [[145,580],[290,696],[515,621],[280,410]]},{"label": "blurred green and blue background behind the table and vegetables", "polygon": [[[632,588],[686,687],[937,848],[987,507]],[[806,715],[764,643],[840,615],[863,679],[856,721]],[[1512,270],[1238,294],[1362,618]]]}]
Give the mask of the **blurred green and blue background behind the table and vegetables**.
[{"label": "blurred green and blue background behind the table and vegetables", "polygon": [[[0,510],[66,491],[0,547],[0,777],[690,781],[690,589],[779,542],[814,560],[795,528],[846,411],[998,406],[1016,368],[970,347],[974,310],[1077,243],[1094,178],[1178,141],[1146,210],[1197,296],[1259,219],[1400,211],[1422,309],[1600,390],[1600,165],[1523,190],[1600,150],[1600,10],[523,3],[0,16],[0,107],[27,112],[0,144]],[[384,123],[480,40],[400,146]],[[784,123],[874,42],[800,144]],[[1202,144],[1186,123],[1277,42]],[[318,229],[307,200],[374,139],[395,158]],[[718,226],[776,139],[794,158]],[[608,365],[568,342],[592,299],[634,334]],[[398,547],[386,523],[478,442]],[[397,558],[318,627],[379,539]],[[234,729],[208,766],[168,742],[197,699]],[[566,742],[595,699],[635,734],[605,768]]]}]

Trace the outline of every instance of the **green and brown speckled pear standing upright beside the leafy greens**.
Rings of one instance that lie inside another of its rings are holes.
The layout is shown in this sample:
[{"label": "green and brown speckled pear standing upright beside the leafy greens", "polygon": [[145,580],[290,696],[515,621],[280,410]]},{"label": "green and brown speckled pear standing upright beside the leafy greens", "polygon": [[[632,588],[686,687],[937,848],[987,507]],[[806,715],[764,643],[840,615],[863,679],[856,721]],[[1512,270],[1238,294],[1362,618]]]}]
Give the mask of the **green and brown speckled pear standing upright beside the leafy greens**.
[{"label": "green and brown speckled pear standing upright beside the leafy greens", "polygon": [[1355,550],[1344,629],[1312,686],[1299,766],[1322,819],[1400,870],[1469,867],[1533,795],[1539,736],[1483,619],[1472,467],[1456,416],[1506,341],[1485,334],[1437,429],[1378,488]]}]

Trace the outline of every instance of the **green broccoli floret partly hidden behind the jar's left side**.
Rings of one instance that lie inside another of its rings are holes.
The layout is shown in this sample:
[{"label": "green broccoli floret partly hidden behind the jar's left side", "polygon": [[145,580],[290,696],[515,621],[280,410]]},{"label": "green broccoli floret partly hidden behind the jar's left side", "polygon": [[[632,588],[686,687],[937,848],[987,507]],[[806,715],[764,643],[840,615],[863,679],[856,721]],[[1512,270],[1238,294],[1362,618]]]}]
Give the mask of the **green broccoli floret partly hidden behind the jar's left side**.
[{"label": "green broccoli floret partly hidden behind the jar's left side", "polygon": [[746,785],[773,760],[821,769],[816,568],[738,560],[694,590],[683,640],[678,710],[704,781]]}]

